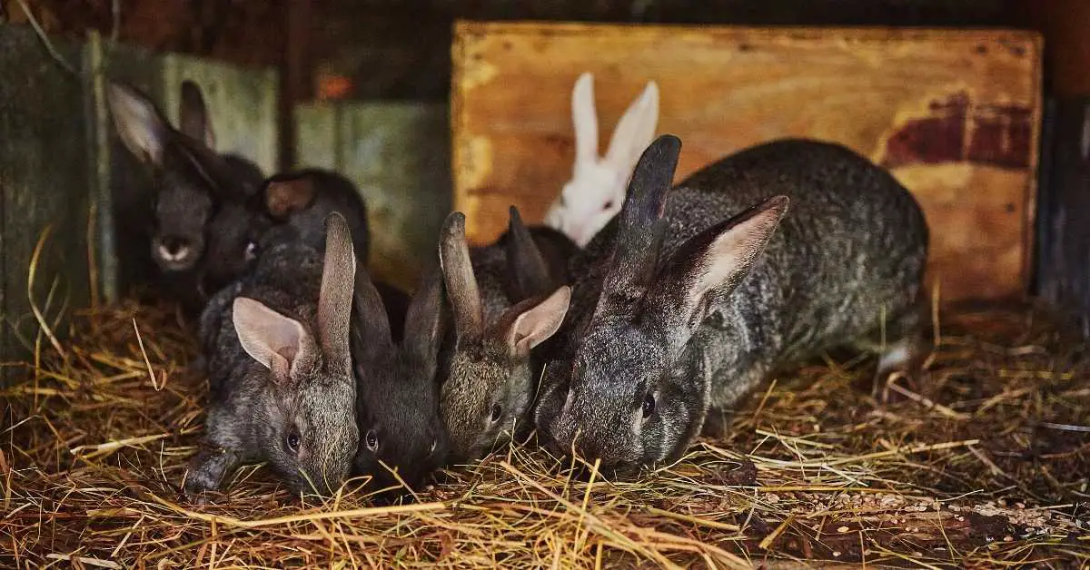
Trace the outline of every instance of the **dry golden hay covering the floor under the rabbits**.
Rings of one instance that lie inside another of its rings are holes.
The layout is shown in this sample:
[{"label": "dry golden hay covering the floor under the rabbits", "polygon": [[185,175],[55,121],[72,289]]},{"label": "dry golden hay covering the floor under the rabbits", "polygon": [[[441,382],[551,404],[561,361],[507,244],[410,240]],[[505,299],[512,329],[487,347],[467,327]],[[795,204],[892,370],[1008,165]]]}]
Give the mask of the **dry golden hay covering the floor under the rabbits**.
[{"label": "dry golden hay covering the floor under the rabbits", "polygon": [[195,343],[164,308],[99,310],[10,365],[0,565],[1086,566],[1086,359],[1039,320],[962,315],[891,403],[860,387],[873,362],[809,365],[639,481],[580,482],[526,446],[404,505],[304,502],[247,468],[195,506],[178,493],[203,423]]}]

